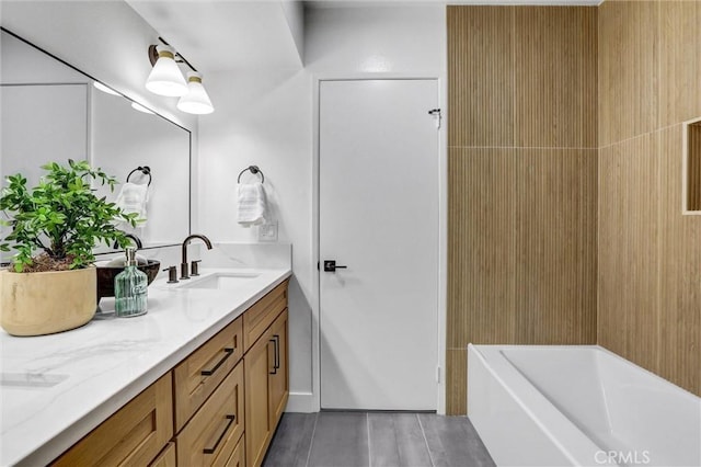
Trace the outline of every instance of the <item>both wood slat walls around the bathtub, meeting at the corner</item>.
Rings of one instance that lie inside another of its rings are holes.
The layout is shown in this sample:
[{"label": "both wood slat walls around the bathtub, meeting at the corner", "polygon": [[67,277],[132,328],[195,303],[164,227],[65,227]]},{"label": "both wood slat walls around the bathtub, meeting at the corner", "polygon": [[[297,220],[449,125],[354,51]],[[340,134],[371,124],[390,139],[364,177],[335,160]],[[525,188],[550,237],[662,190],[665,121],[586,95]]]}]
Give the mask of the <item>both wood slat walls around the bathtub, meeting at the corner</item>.
[{"label": "both wood slat walls around the bathtub, meeting at the corner", "polygon": [[448,68],[448,413],[469,342],[597,342],[701,395],[701,1],[449,7]]}]

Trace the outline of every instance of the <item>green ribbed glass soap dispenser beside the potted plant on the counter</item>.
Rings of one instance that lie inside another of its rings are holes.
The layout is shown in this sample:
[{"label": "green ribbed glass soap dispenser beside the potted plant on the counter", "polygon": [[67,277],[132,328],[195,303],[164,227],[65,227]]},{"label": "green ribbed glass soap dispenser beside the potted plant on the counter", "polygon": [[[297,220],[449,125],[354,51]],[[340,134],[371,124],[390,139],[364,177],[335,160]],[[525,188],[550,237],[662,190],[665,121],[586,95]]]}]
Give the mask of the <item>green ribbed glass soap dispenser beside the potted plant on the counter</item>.
[{"label": "green ribbed glass soap dispenser beside the potted plant on the counter", "polygon": [[127,265],[114,278],[115,316],[129,318],[145,315],[148,300],[148,278],[136,267],[136,250],[125,249]]}]

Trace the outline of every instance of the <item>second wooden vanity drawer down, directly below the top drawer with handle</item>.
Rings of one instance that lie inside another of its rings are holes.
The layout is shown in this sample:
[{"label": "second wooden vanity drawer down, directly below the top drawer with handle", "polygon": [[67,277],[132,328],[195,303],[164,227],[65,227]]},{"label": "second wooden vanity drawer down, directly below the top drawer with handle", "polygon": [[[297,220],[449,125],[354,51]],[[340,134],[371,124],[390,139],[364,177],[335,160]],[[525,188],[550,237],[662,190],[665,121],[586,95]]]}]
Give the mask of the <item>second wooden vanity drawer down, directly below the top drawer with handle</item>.
[{"label": "second wooden vanity drawer down, directly below the top drawer with handle", "polygon": [[176,436],[177,464],[226,465],[243,430],[243,364],[239,364]]}]

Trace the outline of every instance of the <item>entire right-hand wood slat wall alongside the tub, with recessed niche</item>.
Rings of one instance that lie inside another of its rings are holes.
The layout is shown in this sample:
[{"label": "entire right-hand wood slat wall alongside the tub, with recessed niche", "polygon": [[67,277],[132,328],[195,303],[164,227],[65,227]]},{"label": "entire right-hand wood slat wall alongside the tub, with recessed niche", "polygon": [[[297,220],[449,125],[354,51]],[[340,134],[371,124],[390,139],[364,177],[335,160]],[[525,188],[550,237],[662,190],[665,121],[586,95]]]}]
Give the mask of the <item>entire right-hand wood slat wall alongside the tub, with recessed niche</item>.
[{"label": "entire right-hand wood slat wall alongside the tub, with recessed niche", "polygon": [[701,216],[682,122],[701,116],[701,2],[599,7],[598,343],[701,395]]}]

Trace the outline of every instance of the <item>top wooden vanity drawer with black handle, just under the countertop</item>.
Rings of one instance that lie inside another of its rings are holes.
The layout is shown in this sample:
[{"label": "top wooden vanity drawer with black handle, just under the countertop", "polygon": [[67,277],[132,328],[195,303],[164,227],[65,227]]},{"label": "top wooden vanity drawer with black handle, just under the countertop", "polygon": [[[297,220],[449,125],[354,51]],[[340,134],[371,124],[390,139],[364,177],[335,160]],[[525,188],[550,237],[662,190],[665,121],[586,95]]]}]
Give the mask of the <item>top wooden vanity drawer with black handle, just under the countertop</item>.
[{"label": "top wooden vanity drawer with black handle, just under the countertop", "polygon": [[242,322],[237,318],[173,371],[176,432],[243,356]]}]

